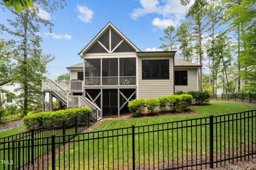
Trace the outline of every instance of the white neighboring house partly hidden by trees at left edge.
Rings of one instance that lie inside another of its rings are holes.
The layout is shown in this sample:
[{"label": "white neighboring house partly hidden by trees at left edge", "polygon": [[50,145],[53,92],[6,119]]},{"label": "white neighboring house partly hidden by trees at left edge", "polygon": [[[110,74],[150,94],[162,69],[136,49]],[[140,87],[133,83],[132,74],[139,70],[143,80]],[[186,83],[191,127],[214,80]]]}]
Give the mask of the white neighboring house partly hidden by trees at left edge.
[{"label": "white neighboring house partly hidden by trees at left edge", "polygon": [[[18,84],[13,84],[11,85],[8,82],[0,82],[0,88],[7,90],[15,95],[17,95],[17,92],[14,92],[15,89],[17,89],[19,86]],[[5,101],[3,105],[17,105],[17,102],[15,101],[14,98],[11,96],[1,94],[2,95],[2,100]]]}]

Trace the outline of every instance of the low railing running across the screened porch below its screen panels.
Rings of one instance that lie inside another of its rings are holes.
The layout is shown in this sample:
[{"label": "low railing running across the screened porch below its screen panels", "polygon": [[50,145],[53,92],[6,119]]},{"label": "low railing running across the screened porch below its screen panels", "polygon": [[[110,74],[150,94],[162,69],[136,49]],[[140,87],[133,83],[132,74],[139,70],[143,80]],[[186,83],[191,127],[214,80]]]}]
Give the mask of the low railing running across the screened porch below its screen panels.
[{"label": "low railing running across the screened porch below its screen panels", "polygon": [[[118,80],[119,79],[119,80]],[[119,82],[118,82],[119,81]],[[136,86],[136,76],[84,78],[84,86]]]}]

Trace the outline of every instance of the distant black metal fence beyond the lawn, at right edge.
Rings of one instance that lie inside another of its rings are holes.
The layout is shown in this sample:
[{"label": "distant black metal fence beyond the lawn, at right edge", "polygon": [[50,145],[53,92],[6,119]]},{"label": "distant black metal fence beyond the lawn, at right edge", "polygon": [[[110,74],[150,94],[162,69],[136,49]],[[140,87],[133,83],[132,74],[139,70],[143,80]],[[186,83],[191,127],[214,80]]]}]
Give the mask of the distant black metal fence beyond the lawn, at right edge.
[{"label": "distant black metal fence beyond the lawn, at right edge", "polygon": [[221,94],[215,95],[211,97],[211,100],[219,100],[219,101],[239,101],[246,103],[254,103],[256,104],[256,94]]}]

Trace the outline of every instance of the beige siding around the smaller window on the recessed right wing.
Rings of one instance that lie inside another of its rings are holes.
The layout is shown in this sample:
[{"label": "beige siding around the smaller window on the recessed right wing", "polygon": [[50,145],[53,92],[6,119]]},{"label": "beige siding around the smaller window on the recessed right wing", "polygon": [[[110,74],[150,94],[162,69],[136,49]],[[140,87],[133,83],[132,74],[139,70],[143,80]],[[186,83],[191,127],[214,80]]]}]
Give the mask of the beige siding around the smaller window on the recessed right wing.
[{"label": "beige siding around the smaller window on the recessed right wing", "polygon": [[198,72],[197,69],[189,68],[175,68],[176,70],[187,70],[188,71],[188,86],[175,86],[175,91],[197,91],[198,90]]}]

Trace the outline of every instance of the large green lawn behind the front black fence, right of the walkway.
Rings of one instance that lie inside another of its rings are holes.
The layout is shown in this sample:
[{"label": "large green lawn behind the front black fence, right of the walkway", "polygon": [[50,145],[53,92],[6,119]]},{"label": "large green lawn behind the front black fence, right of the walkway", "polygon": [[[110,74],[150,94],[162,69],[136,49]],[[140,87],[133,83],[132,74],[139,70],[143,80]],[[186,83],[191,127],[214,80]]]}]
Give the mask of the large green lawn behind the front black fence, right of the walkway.
[{"label": "large green lawn behind the front black fence, right of the walkway", "polygon": [[[122,166],[131,166],[132,164],[132,129],[113,130],[106,132],[96,132],[101,130],[117,129],[130,127],[132,125],[148,125],[156,123],[165,123],[172,121],[188,120],[191,118],[208,117],[209,115],[222,115],[228,113],[236,113],[249,111],[256,109],[256,106],[222,102],[222,101],[211,101],[211,105],[208,106],[193,106],[192,108],[197,112],[191,115],[166,115],[166,116],[155,116],[155,117],[141,117],[133,118],[130,120],[115,120],[104,121],[93,131],[95,133],[81,134],[75,138],[74,142],[70,142],[69,147],[65,147],[65,152],[61,152],[57,156],[57,169],[63,169],[63,167],[70,167],[74,169],[83,168],[92,169],[93,166],[97,169],[103,167],[110,168],[122,168]],[[250,115],[254,113],[250,113]],[[243,118],[247,115],[238,115],[238,117],[225,117],[226,120],[229,118]],[[215,121],[223,121],[218,118]],[[215,154],[226,154],[230,149],[234,149],[237,153],[242,154],[240,148],[247,146],[247,141],[255,145],[256,138],[256,120],[253,118],[242,119],[241,121],[218,123],[214,124],[214,131],[218,129],[219,133],[214,133],[214,152]],[[141,134],[135,134],[135,163],[136,165],[143,166],[143,163],[149,166],[155,166],[155,168],[163,168],[163,162],[172,160],[177,162],[178,158],[181,159],[188,156],[188,162],[190,159],[200,158],[202,155],[202,161],[204,158],[209,156],[209,119],[196,120],[196,121],[185,121],[179,123],[166,123],[154,126],[145,126],[136,128],[135,133],[145,132]],[[198,124],[204,124],[198,126]],[[181,128],[193,125],[193,127]],[[206,127],[207,126],[207,127]],[[254,127],[255,126],[255,127]],[[236,127],[238,127],[236,129]],[[176,129],[177,128],[177,129]],[[249,129],[249,130],[248,130]],[[252,132],[250,129],[254,129]],[[153,132],[160,130],[159,132]],[[221,131],[220,131],[221,130]],[[220,133],[221,132],[221,133]],[[124,135],[120,135],[124,134]],[[125,135],[128,134],[128,135]],[[236,135],[237,134],[237,135]],[[119,135],[118,137],[116,135]],[[110,137],[109,137],[110,136]],[[202,137],[202,138],[201,138]],[[96,138],[92,140],[93,138]],[[81,140],[82,139],[82,140]],[[220,139],[222,139],[220,141]],[[81,140],[81,141],[79,141]],[[234,141],[234,142],[233,142]],[[236,143],[239,143],[236,147]],[[232,147],[234,145],[234,147]],[[229,148],[228,148],[229,146]],[[254,147],[255,148],[255,147]],[[202,150],[202,154],[201,154]],[[218,151],[218,152],[217,152]],[[197,159],[197,163],[200,160]],[[194,164],[195,164],[194,160]],[[209,158],[208,160],[209,161]],[[59,165],[60,163],[60,165]],[[184,163],[185,164],[185,163]],[[191,164],[191,160],[189,162]],[[158,167],[159,166],[159,167]],[[181,161],[179,162],[181,166]],[[166,167],[166,165],[165,165]]]}]

